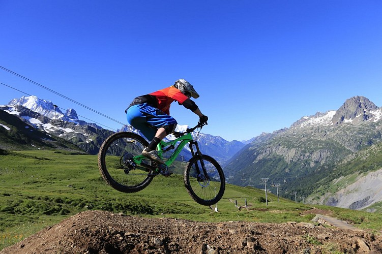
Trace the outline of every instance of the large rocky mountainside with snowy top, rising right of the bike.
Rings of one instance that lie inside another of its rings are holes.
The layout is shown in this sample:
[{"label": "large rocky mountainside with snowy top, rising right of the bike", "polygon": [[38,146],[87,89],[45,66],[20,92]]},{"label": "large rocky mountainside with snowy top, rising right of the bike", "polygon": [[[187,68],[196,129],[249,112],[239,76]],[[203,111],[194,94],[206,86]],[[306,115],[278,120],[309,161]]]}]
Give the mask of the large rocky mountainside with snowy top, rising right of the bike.
[{"label": "large rocky mountainside with snowy top, rising right of the bike", "polygon": [[[349,113],[349,109],[354,113]],[[289,128],[261,135],[262,139],[256,137],[224,167],[246,176],[245,181],[231,181],[234,184],[247,185],[249,177],[269,178],[272,183],[282,184],[284,197],[294,199],[295,191],[307,197],[337,165],[382,142],[380,119],[381,108],[365,97],[352,97],[338,110],[304,116]],[[255,187],[263,185],[256,183]]]}]

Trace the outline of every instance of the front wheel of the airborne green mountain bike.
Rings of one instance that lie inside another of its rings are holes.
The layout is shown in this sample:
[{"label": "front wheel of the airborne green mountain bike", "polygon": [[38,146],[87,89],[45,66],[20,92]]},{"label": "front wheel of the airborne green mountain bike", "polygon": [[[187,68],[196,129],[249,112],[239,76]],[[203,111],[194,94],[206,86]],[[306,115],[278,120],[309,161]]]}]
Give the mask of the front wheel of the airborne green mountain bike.
[{"label": "front wheel of the airborne green mountain bike", "polygon": [[225,190],[223,170],[208,155],[191,158],[184,171],[184,183],[188,194],[200,205],[216,204]]}]

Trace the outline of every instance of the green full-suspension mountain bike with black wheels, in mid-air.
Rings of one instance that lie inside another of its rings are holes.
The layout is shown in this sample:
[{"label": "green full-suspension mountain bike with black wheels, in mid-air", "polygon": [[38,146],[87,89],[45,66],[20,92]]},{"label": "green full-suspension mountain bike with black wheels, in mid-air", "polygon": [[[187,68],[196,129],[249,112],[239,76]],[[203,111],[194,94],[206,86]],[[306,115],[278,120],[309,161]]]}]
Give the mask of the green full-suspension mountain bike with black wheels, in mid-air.
[{"label": "green full-suspension mountain bike with black wheels, in mid-air", "polygon": [[[191,159],[184,169],[184,183],[187,192],[200,205],[213,205],[224,194],[225,177],[219,163],[200,152],[198,143],[191,133],[204,124],[198,124],[184,133],[174,132],[175,140],[161,141],[158,155],[165,161],[166,168],[175,161],[183,147],[189,143]],[[144,157],[141,152],[149,142],[132,132],[118,132],[110,135],[98,153],[98,166],[103,179],[114,189],[124,193],[139,192],[150,184],[154,176],[166,175],[159,165]],[[176,147],[176,148],[175,148]],[[172,153],[169,152],[173,150]],[[171,154],[168,158],[165,154]]]}]

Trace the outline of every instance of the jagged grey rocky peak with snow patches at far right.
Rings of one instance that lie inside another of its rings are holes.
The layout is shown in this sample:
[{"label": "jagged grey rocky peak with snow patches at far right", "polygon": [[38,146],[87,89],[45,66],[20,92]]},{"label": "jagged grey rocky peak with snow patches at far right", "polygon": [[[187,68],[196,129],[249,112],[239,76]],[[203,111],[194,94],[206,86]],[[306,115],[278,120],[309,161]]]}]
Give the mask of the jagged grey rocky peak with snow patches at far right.
[{"label": "jagged grey rocky peak with snow patches at far right", "polygon": [[369,99],[363,96],[355,96],[345,101],[333,116],[332,121],[334,124],[352,121],[357,118],[360,121],[365,121],[373,116],[370,112],[376,110],[378,110],[378,107]]}]

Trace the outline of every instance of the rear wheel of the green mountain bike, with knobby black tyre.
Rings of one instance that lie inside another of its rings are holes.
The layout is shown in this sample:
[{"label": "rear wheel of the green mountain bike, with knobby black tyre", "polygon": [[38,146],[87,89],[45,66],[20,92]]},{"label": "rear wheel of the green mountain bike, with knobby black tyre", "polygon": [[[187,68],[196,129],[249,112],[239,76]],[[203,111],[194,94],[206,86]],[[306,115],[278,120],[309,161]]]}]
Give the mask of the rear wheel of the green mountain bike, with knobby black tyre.
[{"label": "rear wheel of the green mountain bike, with knobby black tyre", "polygon": [[110,135],[98,153],[98,167],[103,179],[114,189],[124,193],[139,192],[153,180],[150,160],[134,165],[133,156],[140,155],[149,143],[141,136],[130,132]]}]

